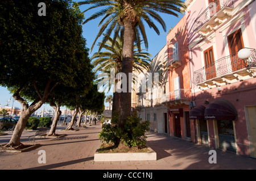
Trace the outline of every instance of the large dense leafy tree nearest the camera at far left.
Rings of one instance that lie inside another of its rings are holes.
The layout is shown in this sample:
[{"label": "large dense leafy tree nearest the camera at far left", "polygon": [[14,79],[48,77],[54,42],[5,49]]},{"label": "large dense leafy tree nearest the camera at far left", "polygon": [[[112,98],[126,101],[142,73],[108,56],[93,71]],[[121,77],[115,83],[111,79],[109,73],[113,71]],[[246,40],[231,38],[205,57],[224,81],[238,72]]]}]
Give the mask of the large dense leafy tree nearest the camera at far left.
[{"label": "large dense leafy tree nearest the camera at far left", "polygon": [[56,86],[79,84],[76,74],[86,56],[81,37],[84,16],[77,4],[46,0],[46,16],[39,16],[39,2],[10,0],[0,6],[0,85],[8,87],[22,106],[7,146],[21,144],[28,117],[47,101]]}]

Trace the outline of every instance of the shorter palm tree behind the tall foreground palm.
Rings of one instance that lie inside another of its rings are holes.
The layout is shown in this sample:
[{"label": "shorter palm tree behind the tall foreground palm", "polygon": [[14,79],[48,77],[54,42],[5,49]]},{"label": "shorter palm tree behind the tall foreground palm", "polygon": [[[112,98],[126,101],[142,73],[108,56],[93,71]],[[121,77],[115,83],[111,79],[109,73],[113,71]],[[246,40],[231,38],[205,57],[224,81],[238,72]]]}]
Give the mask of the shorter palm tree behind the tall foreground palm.
[{"label": "shorter palm tree behind the tall foreground palm", "polygon": [[[111,69],[115,70],[114,76],[121,72],[122,69],[122,46],[123,46],[123,38],[119,35],[117,36],[117,40],[113,44],[113,38],[109,37],[109,40],[102,46],[105,48],[105,52],[97,52],[94,53],[91,57],[92,65],[94,66],[94,72],[101,71],[104,72],[106,77],[99,77],[97,80],[99,85],[104,85],[103,90],[105,91],[108,88],[110,91],[110,87],[113,83],[114,87],[117,82],[112,82],[111,78]],[[140,47],[140,45],[139,45]],[[151,66],[149,64],[151,54],[148,52],[144,52],[142,49],[139,51],[138,45],[134,45],[134,56],[133,56],[133,70],[137,70],[139,73],[143,72],[143,69],[149,71]],[[101,74],[102,75],[102,74]],[[113,106],[112,106],[112,115],[114,116],[114,111],[119,112],[120,107],[120,96],[121,93],[118,93],[117,90],[114,90],[113,94]],[[112,117],[113,117],[112,116]]]}]

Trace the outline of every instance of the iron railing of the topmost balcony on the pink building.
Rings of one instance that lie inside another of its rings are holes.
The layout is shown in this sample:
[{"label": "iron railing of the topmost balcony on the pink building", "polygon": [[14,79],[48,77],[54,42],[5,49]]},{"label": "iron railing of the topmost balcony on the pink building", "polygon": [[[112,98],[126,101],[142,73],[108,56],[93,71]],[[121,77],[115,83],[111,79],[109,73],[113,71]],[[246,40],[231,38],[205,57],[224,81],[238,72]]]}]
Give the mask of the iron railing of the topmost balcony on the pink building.
[{"label": "iron railing of the topmost balcony on the pink building", "polygon": [[217,14],[223,7],[234,7],[233,0],[215,0],[214,2],[209,3],[207,9],[196,18],[193,31],[199,30],[199,28],[207,23],[208,20]]}]

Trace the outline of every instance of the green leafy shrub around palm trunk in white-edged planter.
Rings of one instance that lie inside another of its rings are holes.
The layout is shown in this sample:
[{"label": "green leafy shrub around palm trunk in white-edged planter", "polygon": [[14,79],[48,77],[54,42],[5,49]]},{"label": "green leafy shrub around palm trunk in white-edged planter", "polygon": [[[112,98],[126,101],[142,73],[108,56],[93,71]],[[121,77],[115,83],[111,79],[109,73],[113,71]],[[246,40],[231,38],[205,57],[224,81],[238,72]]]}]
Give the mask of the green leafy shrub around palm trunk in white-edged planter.
[{"label": "green leafy shrub around palm trunk in white-edged planter", "polygon": [[121,140],[124,145],[129,147],[146,146],[145,133],[150,130],[150,121],[142,121],[137,115],[127,117],[125,127],[118,128],[118,116],[114,116],[111,124],[103,124],[99,135],[101,141],[107,143]]}]

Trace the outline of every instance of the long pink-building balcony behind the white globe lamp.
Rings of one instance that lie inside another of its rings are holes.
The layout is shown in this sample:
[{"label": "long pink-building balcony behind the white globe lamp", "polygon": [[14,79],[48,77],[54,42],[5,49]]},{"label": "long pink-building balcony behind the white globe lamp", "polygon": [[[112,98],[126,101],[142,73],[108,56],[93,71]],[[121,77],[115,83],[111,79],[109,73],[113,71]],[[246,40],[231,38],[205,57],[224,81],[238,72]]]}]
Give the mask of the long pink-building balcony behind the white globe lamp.
[{"label": "long pink-building balcony behind the white globe lamp", "polygon": [[251,56],[247,60],[238,58],[237,52],[194,71],[193,83],[204,90],[256,77],[256,52],[248,49]]}]

